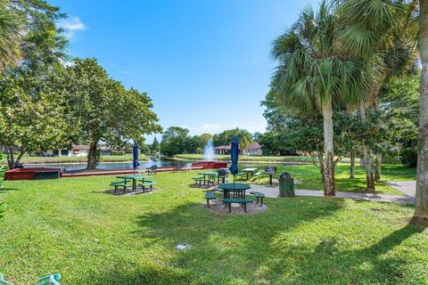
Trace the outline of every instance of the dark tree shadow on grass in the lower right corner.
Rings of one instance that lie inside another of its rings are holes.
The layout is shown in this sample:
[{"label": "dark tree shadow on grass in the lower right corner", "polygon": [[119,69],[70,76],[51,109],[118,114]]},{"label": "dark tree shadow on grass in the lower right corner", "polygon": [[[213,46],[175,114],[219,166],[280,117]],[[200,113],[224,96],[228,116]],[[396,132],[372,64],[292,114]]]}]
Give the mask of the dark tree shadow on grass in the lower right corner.
[{"label": "dark tree shadow on grass in the lower right corner", "polygon": [[[424,232],[424,227],[407,224],[372,246],[357,250],[338,249],[340,237],[332,236],[315,248],[303,245],[285,250],[284,256],[293,256],[292,264],[287,264],[286,257],[280,258],[267,274],[289,270],[293,278],[287,284],[408,284],[416,280],[414,276],[406,279],[407,266],[417,261],[407,255],[406,249],[390,251],[420,232]],[[426,278],[423,271],[419,277]]]}]

